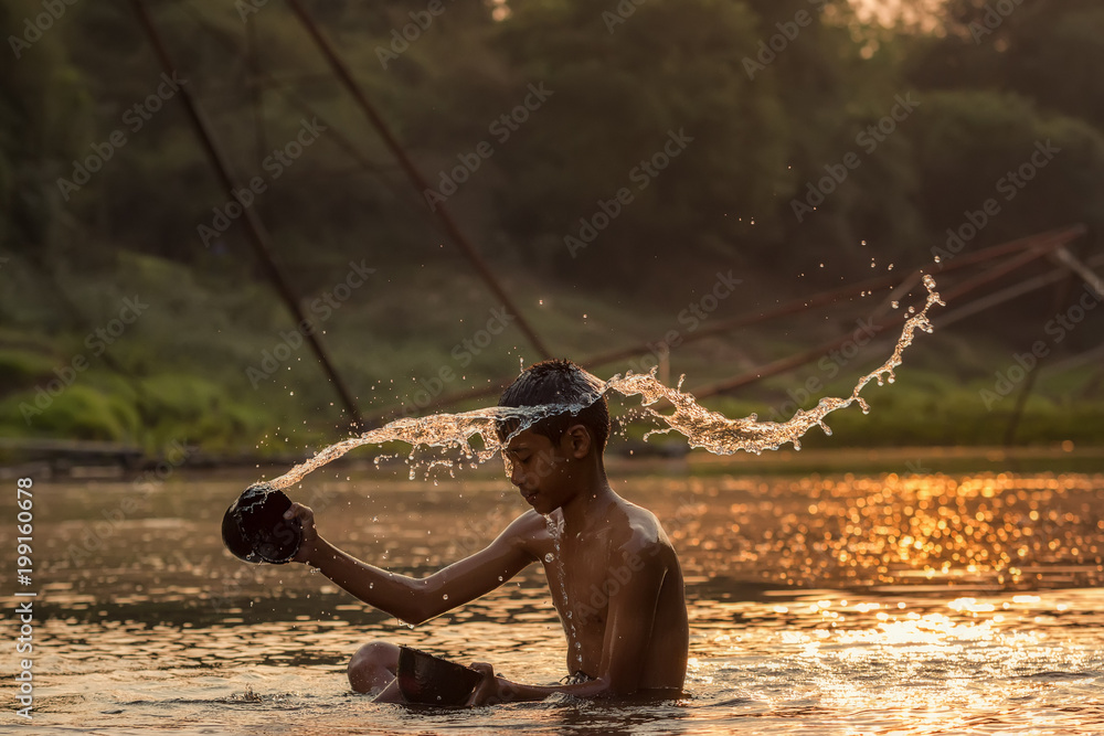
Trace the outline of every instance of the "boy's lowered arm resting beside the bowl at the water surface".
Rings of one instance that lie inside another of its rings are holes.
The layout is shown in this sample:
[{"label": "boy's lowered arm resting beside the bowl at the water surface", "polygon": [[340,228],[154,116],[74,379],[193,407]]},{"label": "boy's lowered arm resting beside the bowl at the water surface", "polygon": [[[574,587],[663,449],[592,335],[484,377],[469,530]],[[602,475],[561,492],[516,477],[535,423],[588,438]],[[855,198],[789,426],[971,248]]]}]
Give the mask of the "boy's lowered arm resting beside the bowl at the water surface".
[{"label": "boy's lowered arm resting beside the bowl at the water surface", "polygon": [[662,554],[655,550],[640,551],[641,566],[633,569],[629,580],[609,598],[605,640],[596,680],[574,685],[526,685],[495,676],[490,664],[476,663],[473,668],[484,673],[484,682],[476,689],[469,705],[540,701],[552,693],[567,693],[577,697],[598,695],[628,695],[640,686],[647,644],[656,620],[656,605],[667,575]]}]

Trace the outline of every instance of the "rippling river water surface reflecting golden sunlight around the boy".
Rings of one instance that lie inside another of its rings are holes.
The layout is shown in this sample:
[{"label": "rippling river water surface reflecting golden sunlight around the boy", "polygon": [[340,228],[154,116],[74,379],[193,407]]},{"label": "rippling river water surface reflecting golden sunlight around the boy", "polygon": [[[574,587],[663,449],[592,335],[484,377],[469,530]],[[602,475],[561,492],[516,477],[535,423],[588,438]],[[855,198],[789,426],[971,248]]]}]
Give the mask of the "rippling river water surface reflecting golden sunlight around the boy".
[{"label": "rippling river water surface reflecting golden sunlight around the boy", "polygon": [[[348,474],[287,490],[325,536],[407,574],[477,551],[526,509],[506,480]],[[1104,476],[616,480],[682,559],[686,697],[473,711],[373,704],[346,663],[386,639],[556,681],[565,643],[542,567],[410,629],[304,566],[232,557],[222,513],[255,480],[35,483],[34,717],[14,715],[12,644],[6,733],[1104,733]],[[0,508],[13,525],[14,491]],[[13,611],[25,598],[4,587]]]}]

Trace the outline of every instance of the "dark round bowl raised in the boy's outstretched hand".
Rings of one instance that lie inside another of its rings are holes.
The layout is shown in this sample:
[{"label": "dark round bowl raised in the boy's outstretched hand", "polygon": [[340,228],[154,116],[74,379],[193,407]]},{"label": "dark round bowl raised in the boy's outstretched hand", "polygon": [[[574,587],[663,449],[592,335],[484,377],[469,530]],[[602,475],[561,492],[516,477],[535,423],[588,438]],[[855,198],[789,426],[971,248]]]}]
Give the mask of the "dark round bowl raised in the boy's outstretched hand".
[{"label": "dark round bowl raised in the boy's outstretched hand", "polygon": [[291,499],[265,483],[245,489],[222,518],[222,541],[238,559],[283,565],[302,542],[298,519],[284,519]]}]

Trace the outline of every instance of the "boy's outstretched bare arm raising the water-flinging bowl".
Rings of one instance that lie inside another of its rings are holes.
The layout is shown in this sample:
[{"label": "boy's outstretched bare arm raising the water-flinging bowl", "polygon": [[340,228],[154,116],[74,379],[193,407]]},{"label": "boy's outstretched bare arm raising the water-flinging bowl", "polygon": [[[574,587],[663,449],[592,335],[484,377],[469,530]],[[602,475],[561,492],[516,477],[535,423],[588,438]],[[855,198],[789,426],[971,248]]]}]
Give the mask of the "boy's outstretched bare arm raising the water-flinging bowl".
[{"label": "boy's outstretched bare arm raising the water-flinging bowl", "polygon": [[389,573],[338,550],[318,535],[307,506],[294,503],[285,514],[302,524],[296,562],[317,567],[360,600],[411,625],[493,590],[534,562],[526,544],[532,524],[528,515],[516,519],[488,547],[420,579]]}]

